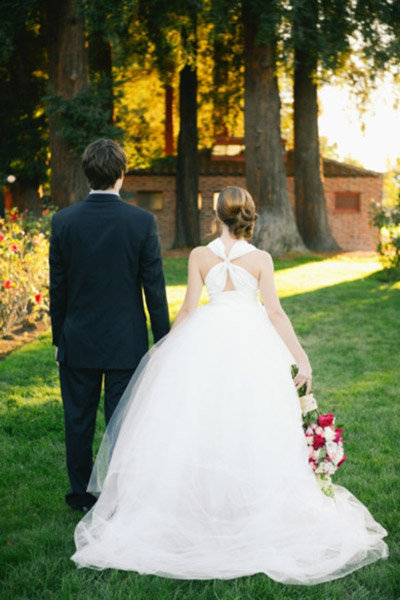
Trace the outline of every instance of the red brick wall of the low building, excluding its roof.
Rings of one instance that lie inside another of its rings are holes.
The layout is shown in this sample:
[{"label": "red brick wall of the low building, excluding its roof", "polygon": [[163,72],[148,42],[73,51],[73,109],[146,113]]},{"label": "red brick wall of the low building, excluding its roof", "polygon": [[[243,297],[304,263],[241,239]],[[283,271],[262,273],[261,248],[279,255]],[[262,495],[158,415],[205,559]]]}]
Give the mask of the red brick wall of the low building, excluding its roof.
[{"label": "red brick wall of the low building, excluding its roof", "polygon": [[[210,239],[214,221],[213,195],[228,185],[245,187],[243,176],[207,175],[199,178],[199,192],[202,196],[200,211],[200,234],[202,241]],[[329,223],[333,235],[343,250],[375,250],[378,233],[369,225],[368,211],[372,199],[380,200],[382,194],[381,176],[326,177],[325,197]],[[289,197],[294,205],[294,181],[288,177]],[[163,249],[171,248],[175,232],[175,176],[151,174],[127,174],[125,192],[162,191],[163,208],[152,211],[157,217]],[[360,194],[359,211],[338,211],[335,209],[335,194],[354,192]]]}]

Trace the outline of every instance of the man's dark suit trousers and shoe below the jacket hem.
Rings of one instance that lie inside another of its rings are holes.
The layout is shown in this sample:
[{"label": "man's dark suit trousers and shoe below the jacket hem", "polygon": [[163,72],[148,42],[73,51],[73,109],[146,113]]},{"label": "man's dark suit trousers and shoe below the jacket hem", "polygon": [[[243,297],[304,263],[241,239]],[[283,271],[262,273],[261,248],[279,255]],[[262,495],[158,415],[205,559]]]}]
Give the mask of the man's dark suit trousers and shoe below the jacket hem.
[{"label": "man's dark suit trousers and shoe below the jacket hem", "polygon": [[96,500],[86,489],[93,467],[92,445],[103,377],[107,425],[134,371],[78,369],[60,364],[67,469],[71,484],[66,502],[73,508],[90,508]]}]

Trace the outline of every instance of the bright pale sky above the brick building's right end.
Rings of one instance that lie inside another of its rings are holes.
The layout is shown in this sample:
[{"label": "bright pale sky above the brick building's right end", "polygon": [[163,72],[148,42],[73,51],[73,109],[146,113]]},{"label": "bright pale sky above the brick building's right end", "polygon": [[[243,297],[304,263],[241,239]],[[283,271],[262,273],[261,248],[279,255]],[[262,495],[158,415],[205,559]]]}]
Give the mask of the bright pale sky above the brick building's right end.
[{"label": "bright pale sky above the brick building's right end", "polygon": [[400,158],[400,106],[393,106],[395,96],[388,81],[371,93],[363,131],[350,89],[324,85],[319,91],[320,136],[326,136],[329,144],[336,142],[340,159],[350,154],[367,169],[386,171],[388,161],[394,164]]}]

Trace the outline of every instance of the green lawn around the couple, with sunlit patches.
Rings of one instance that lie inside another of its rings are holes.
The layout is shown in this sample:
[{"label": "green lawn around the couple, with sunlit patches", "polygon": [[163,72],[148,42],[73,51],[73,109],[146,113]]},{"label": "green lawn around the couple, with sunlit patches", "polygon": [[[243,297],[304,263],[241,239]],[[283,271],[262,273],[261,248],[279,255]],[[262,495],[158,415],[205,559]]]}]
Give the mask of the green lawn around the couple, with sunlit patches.
[{"label": "green lawn around the couple, with sunlit patches", "polygon": [[[187,262],[167,259],[171,314]],[[323,410],[344,425],[348,487],[389,532],[390,557],[344,579],[285,586],[256,575],[176,581],[77,570],[69,560],[80,516],[64,504],[63,414],[49,334],[0,364],[0,598],[12,600],[400,600],[400,285],[375,259],[277,261],[282,304],[314,369]],[[103,429],[99,419],[97,439]]]}]

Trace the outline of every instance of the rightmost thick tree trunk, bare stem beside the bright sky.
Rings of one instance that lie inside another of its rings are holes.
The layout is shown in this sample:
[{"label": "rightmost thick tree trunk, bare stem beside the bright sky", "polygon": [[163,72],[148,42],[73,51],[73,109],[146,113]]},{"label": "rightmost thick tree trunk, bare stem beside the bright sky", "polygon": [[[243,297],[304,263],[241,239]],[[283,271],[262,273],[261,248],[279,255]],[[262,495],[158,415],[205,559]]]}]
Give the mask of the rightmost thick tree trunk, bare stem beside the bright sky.
[{"label": "rightmost thick tree trunk, bare stem beside the bright sky", "polygon": [[318,139],[316,60],[295,52],[294,182],[296,220],[302,238],[313,250],[338,250],[328,222]]}]

